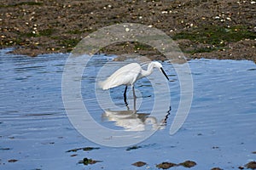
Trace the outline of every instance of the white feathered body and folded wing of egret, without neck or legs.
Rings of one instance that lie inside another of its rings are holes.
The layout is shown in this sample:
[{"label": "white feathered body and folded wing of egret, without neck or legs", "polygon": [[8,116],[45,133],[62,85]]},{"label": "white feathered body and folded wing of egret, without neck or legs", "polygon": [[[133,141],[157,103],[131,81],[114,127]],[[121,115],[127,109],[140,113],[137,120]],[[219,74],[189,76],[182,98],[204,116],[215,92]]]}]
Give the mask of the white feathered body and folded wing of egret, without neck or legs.
[{"label": "white feathered body and folded wing of egret, without neck or legs", "polygon": [[114,88],[120,85],[131,85],[137,80],[141,72],[141,66],[137,63],[125,65],[115,71],[107,80],[100,82],[103,90]]}]

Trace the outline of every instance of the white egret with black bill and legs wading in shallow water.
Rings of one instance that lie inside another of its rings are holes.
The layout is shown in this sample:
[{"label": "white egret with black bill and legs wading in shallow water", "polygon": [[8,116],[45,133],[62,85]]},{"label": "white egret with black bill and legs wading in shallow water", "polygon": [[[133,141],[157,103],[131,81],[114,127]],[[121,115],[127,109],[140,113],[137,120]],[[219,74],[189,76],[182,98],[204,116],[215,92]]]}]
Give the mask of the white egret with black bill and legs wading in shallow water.
[{"label": "white egret with black bill and legs wading in shallow water", "polygon": [[110,77],[108,77],[107,80],[104,82],[100,82],[99,85],[103,90],[107,90],[109,88],[115,88],[120,85],[125,85],[125,92],[124,92],[124,101],[125,105],[127,104],[126,101],[126,91],[127,91],[127,86],[131,86],[133,90],[133,95],[135,97],[135,92],[134,92],[134,83],[143,77],[147,77],[153,72],[154,68],[158,68],[167,78],[169,81],[169,78],[166,75],[166,72],[162,68],[163,66],[160,64],[160,62],[157,61],[152,61],[151,63],[148,64],[148,69],[147,71],[144,71],[142,66],[139,65],[138,63],[131,63],[128,65],[125,65],[119,70],[115,71]]}]

